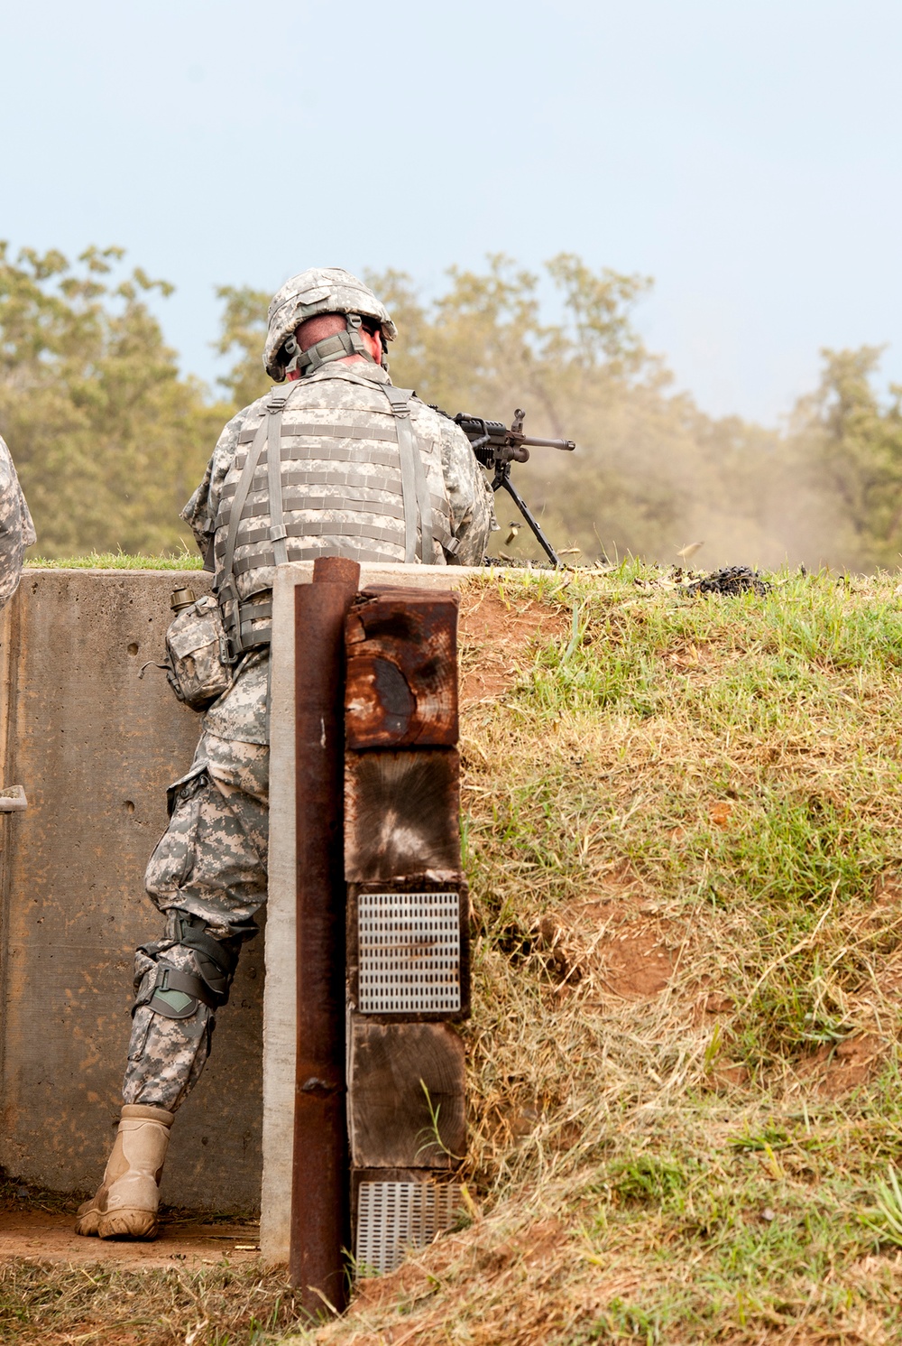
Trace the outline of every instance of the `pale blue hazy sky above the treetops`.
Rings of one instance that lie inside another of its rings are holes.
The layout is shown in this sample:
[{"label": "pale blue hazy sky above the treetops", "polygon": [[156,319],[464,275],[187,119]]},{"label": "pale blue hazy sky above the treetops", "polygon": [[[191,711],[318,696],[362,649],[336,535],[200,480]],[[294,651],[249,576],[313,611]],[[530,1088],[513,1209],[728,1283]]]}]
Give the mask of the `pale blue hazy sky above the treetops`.
[{"label": "pale blue hazy sky above the treetops", "polygon": [[219,283],[566,249],[774,421],[825,345],[902,381],[901,58],[898,0],[3,0],[0,237],[128,248],[207,380]]}]

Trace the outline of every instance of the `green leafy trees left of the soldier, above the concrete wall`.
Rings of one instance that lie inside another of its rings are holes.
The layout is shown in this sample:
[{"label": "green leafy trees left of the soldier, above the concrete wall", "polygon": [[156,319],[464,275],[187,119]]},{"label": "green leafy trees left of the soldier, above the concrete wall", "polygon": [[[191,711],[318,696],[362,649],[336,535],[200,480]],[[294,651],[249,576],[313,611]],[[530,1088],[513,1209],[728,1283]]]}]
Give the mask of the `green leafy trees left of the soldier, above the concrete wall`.
[{"label": "green leafy trees left of the soldier, above the concrete wall", "polygon": [[161,553],[186,545],[179,510],[227,415],[181,378],[145,296],[171,292],[118,248],[59,252],[0,244],[0,433],[9,443],[46,556]]}]

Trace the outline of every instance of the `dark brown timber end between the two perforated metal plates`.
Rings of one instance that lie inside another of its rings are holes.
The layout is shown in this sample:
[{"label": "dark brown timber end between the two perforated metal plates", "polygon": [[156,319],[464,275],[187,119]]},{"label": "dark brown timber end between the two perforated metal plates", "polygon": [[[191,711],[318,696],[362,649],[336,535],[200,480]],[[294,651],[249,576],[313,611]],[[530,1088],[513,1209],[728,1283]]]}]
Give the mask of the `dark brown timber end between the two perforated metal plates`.
[{"label": "dark brown timber end between the two perforated metal plates", "polygon": [[348,1075],[358,1168],[453,1168],[466,1149],[464,1043],[446,1023],[355,1016]]}]

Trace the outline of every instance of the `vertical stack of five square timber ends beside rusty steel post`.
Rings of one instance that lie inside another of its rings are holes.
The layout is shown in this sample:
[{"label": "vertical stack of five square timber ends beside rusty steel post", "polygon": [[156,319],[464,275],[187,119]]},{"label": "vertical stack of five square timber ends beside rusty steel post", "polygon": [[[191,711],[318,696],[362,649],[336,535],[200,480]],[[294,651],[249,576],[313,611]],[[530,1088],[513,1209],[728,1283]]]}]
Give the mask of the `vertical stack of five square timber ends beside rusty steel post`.
[{"label": "vertical stack of five square timber ends beside rusty steel post", "polygon": [[345,643],[355,1256],[390,1271],[453,1219],[446,1183],[466,1145],[464,1046],[449,1023],[469,1014],[457,596],[367,590]]}]

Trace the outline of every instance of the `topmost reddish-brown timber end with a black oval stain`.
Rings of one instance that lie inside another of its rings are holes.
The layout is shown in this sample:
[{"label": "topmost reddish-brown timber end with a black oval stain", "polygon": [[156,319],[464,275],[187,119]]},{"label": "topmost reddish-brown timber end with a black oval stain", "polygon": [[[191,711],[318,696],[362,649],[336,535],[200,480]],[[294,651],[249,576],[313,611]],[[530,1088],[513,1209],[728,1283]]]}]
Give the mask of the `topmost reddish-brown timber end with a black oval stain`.
[{"label": "topmost reddish-brown timber end with a black oval stain", "polygon": [[457,595],[367,590],[345,626],[347,746],[457,743]]}]

